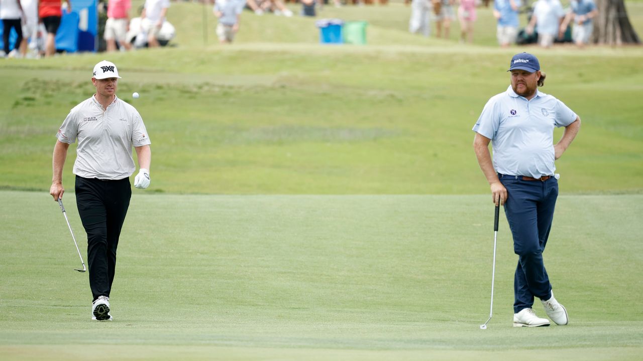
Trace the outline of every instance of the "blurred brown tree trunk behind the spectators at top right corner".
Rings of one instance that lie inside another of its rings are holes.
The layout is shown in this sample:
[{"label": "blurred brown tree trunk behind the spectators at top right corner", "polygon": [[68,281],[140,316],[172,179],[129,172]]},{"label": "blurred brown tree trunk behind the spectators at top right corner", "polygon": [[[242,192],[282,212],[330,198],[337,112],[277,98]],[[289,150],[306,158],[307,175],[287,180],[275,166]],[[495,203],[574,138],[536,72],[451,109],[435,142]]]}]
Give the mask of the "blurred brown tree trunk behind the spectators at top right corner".
[{"label": "blurred brown tree trunk behind the spectators at top right corner", "polygon": [[624,0],[596,0],[593,42],[606,45],[640,44],[625,9]]}]

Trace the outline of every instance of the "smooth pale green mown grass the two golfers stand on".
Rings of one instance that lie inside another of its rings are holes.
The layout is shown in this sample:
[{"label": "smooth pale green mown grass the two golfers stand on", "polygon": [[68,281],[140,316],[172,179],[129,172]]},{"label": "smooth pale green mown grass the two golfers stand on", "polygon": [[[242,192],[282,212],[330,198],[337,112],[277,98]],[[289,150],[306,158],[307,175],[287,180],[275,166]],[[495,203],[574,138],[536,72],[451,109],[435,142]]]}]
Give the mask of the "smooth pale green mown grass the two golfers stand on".
[{"label": "smooth pale green mown grass the two golfers stand on", "polygon": [[[87,276],[73,270],[80,261],[58,205],[42,192],[0,197],[3,360],[638,360],[643,351],[641,195],[559,198],[545,261],[568,326],[511,327],[516,256],[501,215],[485,331],[487,196],[136,193],[113,322],[90,321]],[[73,193],[64,200],[84,243]]]}]

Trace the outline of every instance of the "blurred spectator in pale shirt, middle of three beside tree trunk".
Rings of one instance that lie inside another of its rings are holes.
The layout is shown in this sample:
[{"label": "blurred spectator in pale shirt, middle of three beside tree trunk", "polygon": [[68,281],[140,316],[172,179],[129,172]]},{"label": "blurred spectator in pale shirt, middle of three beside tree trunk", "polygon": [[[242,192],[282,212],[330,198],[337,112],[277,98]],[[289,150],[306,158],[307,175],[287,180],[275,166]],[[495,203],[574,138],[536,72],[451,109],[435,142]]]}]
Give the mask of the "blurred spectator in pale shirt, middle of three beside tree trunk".
[{"label": "blurred spectator in pale shirt, middle of three beside tree trunk", "polygon": [[531,16],[527,33],[538,33],[538,44],[543,48],[550,48],[554,44],[563,18],[565,10],[559,0],[538,0],[534,4],[534,13]]}]

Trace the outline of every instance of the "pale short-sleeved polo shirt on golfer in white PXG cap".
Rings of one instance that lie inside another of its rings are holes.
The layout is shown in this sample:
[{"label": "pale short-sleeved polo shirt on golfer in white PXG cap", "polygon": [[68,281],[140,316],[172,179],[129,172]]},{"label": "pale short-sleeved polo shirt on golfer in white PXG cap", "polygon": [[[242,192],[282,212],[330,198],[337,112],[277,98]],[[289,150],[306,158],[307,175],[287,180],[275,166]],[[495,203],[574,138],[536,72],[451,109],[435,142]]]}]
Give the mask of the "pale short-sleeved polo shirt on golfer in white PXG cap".
[{"label": "pale short-sleeved polo shirt on golfer in white PXG cap", "polygon": [[62,143],[78,139],[73,173],[84,178],[117,180],[134,170],[132,146],[151,144],[138,111],[114,96],[103,109],[91,98],[71,109],[57,134]]}]

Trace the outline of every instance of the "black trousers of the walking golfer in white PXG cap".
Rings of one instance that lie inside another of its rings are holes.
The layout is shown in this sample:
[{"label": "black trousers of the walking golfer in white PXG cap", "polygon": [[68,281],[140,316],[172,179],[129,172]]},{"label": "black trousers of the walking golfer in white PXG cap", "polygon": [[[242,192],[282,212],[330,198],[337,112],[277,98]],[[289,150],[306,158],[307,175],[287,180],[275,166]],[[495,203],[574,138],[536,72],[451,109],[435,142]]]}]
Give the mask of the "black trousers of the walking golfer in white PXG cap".
[{"label": "black trousers of the walking golfer in white PXG cap", "polygon": [[132,188],[129,178],[87,179],[76,176],[76,204],[87,233],[87,266],[93,301],[109,297],[116,270],[116,248]]}]

